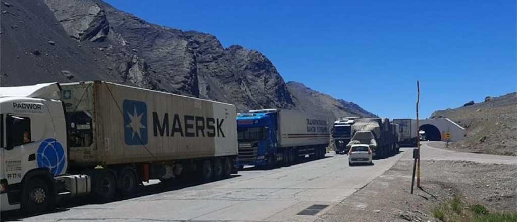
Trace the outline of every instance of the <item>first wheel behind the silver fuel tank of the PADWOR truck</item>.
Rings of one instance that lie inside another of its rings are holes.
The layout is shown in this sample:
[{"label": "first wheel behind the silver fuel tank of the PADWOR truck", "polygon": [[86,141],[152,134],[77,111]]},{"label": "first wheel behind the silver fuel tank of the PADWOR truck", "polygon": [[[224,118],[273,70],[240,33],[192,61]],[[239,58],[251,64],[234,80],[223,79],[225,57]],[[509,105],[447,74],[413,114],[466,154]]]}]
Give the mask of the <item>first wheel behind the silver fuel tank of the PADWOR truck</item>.
[{"label": "first wheel behind the silver fuel tank of the PADWOR truck", "polygon": [[113,173],[108,170],[95,170],[93,171],[93,191],[100,202],[108,202],[113,200],[115,197],[115,191],[117,184]]}]

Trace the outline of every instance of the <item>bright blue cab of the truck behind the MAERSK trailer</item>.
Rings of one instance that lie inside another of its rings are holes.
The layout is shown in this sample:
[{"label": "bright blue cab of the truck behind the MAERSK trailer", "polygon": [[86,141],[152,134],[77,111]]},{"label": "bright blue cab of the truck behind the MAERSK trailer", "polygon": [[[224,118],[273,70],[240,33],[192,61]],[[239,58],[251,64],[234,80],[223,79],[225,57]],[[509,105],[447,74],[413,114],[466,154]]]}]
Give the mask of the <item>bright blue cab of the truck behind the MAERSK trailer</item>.
[{"label": "bright blue cab of the truck behind the MAERSK trailer", "polygon": [[[267,166],[277,153],[277,113],[259,112],[237,115],[237,167]],[[268,162],[269,161],[269,162]]]}]

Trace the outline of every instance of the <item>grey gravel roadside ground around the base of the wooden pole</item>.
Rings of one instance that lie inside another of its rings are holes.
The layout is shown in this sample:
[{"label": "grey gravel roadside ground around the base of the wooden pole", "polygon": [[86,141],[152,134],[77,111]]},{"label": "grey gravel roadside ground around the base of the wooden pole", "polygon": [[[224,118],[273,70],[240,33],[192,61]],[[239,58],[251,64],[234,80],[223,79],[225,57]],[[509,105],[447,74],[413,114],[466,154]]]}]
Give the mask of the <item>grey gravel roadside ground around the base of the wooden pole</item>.
[{"label": "grey gravel roadside ground around the base of the wooden pole", "polygon": [[517,209],[517,166],[422,161],[421,186],[410,194],[411,153],[366,187],[320,217],[320,221],[438,221],[431,210],[454,195],[489,211]]}]

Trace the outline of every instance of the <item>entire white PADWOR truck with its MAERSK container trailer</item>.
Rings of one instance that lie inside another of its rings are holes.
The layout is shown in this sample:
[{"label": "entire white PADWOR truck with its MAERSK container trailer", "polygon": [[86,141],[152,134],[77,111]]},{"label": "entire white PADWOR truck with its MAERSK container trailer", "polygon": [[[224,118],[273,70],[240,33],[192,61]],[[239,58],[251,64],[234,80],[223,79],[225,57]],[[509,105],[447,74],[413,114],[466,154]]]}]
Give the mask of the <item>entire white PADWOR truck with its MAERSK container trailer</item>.
[{"label": "entire white PADWOR truck with its MAERSK container trailer", "polygon": [[1,210],[236,172],[234,105],[108,82],[0,87]]}]

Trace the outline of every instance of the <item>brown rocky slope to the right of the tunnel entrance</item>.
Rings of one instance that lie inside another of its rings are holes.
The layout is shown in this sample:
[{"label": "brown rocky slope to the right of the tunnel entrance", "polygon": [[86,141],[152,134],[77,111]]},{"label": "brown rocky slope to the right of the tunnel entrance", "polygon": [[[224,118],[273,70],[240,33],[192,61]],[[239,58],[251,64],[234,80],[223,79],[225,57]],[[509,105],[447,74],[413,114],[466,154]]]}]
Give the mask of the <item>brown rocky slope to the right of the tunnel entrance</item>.
[{"label": "brown rocky slope to the right of the tunnel entrance", "polygon": [[466,129],[466,137],[453,144],[453,148],[517,156],[517,92],[431,115],[440,117],[450,118]]}]

